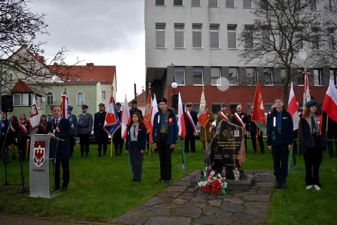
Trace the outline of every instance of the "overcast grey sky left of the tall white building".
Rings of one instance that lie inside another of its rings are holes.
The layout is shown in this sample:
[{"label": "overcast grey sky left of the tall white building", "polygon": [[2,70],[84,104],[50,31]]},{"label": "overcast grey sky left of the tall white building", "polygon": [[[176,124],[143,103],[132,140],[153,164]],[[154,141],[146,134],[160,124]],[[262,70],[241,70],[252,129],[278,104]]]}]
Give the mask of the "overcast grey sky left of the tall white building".
[{"label": "overcast grey sky left of the tall white building", "polygon": [[31,11],[48,13],[45,22],[50,36],[45,58],[51,58],[63,46],[66,63],[80,65],[116,65],[117,100],[133,99],[145,85],[145,30],[143,0],[32,0]]}]

